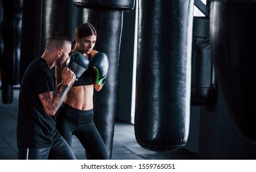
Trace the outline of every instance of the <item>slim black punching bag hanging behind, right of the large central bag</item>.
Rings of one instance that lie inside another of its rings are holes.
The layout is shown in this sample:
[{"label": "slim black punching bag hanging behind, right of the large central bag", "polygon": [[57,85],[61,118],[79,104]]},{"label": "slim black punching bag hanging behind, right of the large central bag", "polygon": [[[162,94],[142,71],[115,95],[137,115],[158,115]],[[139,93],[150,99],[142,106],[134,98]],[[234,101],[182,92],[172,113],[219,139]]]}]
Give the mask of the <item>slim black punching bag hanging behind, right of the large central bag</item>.
[{"label": "slim black punching bag hanging behind, right of the large central bag", "polygon": [[191,106],[208,103],[215,88],[215,76],[210,49],[209,1],[194,1],[205,17],[194,17],[191,68]]}]

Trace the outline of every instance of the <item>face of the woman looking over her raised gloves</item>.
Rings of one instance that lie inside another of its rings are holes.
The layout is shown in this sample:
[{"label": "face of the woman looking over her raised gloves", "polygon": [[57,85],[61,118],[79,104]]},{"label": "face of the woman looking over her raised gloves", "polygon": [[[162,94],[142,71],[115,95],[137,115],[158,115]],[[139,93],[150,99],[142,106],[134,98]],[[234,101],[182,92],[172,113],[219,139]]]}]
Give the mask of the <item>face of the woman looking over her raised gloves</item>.
[{"label": "face of the woman looking over her raised gloves", "polygon": [[80,39],[76,37],[76,42],[78,43],[78,49],[81,53],[89,54],[95,45],[97,37],[95,35],[81,37]]}]

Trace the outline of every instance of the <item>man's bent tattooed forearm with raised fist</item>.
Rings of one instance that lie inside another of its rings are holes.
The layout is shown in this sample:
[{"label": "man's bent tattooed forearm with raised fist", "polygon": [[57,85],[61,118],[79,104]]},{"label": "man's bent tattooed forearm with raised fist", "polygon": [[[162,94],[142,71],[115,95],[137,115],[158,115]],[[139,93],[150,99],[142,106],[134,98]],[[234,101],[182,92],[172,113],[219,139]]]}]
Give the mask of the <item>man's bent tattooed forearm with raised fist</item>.
[{"label": "man's bent tattooed forearm with raised fist", "polygon": [[62,72],[62,83],[57,87],[57,93],[53,96],[53,92],[45,92],[39,94],[39,99],[44,106],[44,110],[48,115],[55,115],[56,111],[60,108],[65,95],[75,80],[75,74],[68,68]]}]

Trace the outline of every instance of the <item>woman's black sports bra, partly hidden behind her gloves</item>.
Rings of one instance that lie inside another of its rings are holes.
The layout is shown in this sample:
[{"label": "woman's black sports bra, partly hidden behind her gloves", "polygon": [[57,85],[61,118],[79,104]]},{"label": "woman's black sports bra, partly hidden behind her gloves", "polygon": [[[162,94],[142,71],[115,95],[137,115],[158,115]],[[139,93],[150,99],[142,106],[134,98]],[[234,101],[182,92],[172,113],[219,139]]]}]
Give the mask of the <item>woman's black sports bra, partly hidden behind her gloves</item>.
[{"label": "woman's black sports bra, partly hidden behind her gloves", "polygon": [[[91,60],[91,54],[89,54],[88,59]],[[92,85],[95,82],[96,73],[93,68],[89,67],[85,72],[78,78],[78,80],[72,85],[81,86],[81,85]]]}]

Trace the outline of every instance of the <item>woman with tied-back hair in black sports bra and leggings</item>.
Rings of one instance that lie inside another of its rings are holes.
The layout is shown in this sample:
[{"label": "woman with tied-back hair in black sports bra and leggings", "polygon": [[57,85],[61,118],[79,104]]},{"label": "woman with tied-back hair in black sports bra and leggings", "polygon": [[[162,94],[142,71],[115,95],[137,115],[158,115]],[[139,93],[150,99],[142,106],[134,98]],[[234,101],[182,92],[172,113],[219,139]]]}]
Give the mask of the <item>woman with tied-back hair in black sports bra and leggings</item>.
[{"label": "woman with tied-back hair in black sports bra and leggings", "polygon": [[[96,43],[96,29],[89,23],[79,25],[75,30],[75,47],[71,53],[80,52],[91,60],[97,53],[93,50]],[[56,67],[56,85],[62,81],[63,68]],[[93,123],[93,92],[99,92],[103,85],[96,84],[96,71],[89,67],[73,84],[65,96],[64,103],[57,115],[57,128],[71,146],[72,135],[78,138],[92,159],[109,159],[101,135]]]}]

